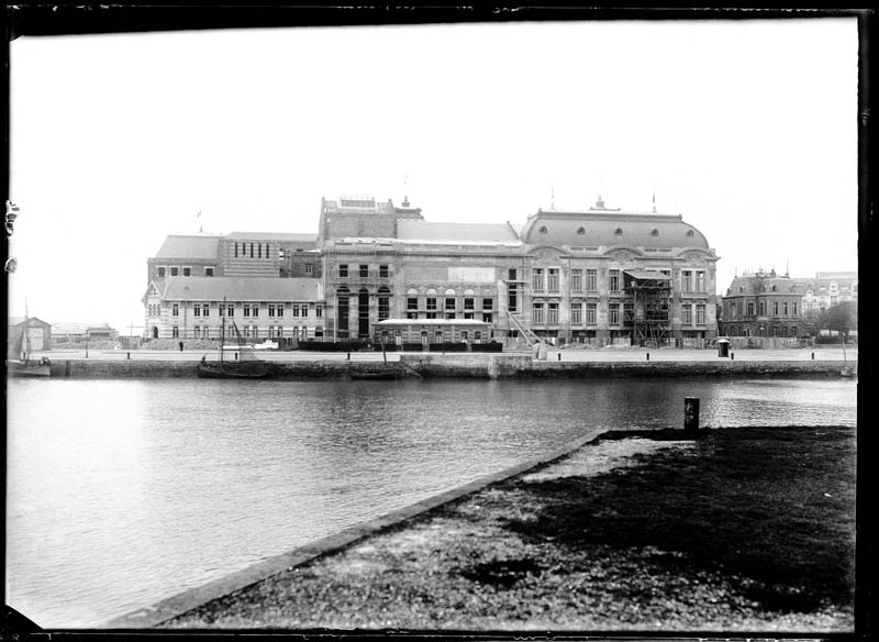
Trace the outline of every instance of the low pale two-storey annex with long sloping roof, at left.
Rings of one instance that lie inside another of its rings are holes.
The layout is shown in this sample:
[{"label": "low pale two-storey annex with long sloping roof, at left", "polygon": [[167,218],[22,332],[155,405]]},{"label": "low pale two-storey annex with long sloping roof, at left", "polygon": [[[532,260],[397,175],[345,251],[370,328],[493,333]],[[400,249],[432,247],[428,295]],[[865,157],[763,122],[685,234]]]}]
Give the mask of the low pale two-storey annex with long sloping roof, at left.
[{"label": "low pale two-storey annex with long sloping roof, at left", "polygon": [[252,341],[324,335],[323,285],[314,278],[153,279],[142,301],[147,340],[219,341],[231,322]]}]

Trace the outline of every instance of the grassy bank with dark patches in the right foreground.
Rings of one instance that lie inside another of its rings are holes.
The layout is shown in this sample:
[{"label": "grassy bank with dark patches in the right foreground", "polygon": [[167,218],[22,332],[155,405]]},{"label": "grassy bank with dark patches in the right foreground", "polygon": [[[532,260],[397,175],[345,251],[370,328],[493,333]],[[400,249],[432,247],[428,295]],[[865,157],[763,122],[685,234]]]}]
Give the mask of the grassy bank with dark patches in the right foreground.
[{"label": "grassy bank with dark patches in the right foreground", "polygon": [[[610,434],[166,627],[852,629],[854,429],[650,438]],[[597,471],[609,449],[627,454]]]}]

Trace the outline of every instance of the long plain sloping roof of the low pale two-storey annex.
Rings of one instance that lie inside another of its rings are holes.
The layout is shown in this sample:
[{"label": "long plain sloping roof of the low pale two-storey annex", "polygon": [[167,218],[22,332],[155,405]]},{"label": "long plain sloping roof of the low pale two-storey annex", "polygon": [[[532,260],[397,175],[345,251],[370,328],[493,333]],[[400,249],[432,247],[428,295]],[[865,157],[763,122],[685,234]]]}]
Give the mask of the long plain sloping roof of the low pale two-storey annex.
[{"label": "long plain sloping roof of the low pale two-storey annex", "polygon": [[153,281],[162,298],[186,301],[321,301],[316,278],[173,276]]}]

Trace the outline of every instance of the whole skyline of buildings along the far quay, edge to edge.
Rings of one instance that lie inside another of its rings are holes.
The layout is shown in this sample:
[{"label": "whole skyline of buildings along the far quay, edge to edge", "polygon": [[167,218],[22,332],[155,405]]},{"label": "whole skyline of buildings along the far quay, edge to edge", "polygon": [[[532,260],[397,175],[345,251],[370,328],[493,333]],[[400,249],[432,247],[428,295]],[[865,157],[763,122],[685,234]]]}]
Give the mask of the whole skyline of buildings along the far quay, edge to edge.
[{"label": "whole skyline of buildings along the far quay, edge to edge", "polygon": [[[33,351],[215,342],[226,321],[247,342],[286,347],[793,345],[819,333],[826,310],[857,305],[856,272],[759,269],[716,295],[717,261],[681,215],[611,209],[601,197],[585,211],[497,224],[432,222],[405,198],[344,196],[321,199],[316,234],[167,236],[147,259],[142,336],[104,322],[26,325]],[[9,320],[8,345],[22,343],[24,326]]]}]

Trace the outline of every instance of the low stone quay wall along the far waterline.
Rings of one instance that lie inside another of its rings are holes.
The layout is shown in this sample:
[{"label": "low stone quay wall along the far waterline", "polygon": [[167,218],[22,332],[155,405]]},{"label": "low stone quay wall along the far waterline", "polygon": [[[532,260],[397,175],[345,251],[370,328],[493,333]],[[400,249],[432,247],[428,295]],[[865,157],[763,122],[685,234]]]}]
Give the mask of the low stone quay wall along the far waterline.
[{"label": "low stone quay wall along the far waterline", "polygon": [[[53,377],[118,379],[180,377],[194,378],[192,361],[70,359],[53,363]],[[399,362],[296,361],[269,362],[275,379],[347,378],[625,378],[625,377],[725,377],[841,376],[857,363],[845,361],[750,361],[710,362],[553,362],[512,354],[412,354]]]}]

